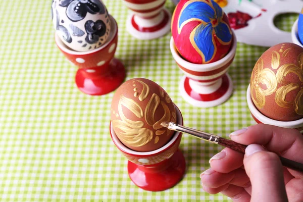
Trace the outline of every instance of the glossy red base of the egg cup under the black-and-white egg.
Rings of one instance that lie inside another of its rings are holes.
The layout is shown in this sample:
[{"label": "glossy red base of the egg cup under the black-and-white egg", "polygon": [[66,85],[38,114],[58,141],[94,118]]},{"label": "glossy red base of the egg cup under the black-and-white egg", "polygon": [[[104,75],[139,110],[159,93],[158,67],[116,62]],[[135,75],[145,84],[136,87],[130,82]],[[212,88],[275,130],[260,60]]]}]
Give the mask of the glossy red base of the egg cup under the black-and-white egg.
[{"label": "glossy red base of the egg cup under the black-and-white egg", "polygon": [[116,58],[112,59],[106,72],[100,68],[78,69],[76,84],[80,91],[89,95],[104,95],[114,91],[126,76],[123,64]]}]

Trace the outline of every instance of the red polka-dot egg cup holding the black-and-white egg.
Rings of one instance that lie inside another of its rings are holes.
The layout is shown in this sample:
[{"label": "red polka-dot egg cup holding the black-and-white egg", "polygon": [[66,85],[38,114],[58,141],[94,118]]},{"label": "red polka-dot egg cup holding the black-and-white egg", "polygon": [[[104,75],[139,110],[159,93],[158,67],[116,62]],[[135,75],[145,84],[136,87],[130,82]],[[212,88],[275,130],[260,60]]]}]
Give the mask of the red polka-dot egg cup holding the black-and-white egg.
[{"label": "red polka-dot egg cup holding the black-and-white egg", "polygon": [[60,51],[79,67],[75,79],[77,87],[89,95],[110,93],[119,87],[125,78],[123,64],[114,58],[118,42],[117,22],[112,16],[110,19],[111,32],[107,42],[91,51],[73,51],[55,34],[55,41]]}]

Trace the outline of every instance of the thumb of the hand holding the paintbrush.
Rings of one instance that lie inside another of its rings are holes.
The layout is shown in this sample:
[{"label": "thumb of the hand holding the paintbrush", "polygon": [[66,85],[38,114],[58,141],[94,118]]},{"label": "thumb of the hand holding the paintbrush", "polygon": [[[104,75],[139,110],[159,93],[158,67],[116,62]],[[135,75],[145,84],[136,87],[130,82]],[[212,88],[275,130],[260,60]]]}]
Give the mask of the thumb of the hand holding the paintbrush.
[{"label": "thumb of the hand holding the paintbrush", "polygon": [[275,153],[250,144],[245,149],[244,168],[251,182],[250,201],[288,201],[282,164]]}]

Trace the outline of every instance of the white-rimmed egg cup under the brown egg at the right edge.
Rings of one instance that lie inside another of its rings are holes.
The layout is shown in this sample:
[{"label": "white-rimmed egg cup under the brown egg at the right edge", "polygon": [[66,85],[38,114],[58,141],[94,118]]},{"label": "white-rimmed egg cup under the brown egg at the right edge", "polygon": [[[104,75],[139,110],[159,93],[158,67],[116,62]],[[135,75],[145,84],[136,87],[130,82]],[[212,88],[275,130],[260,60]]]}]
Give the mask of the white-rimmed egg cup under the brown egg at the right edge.
[{"label": "white-rimmed egg cup under the brown egg at the right edge", "polygon": [[255,106],[254,102],[252,102],[251,95],[250,95],[250,84],[248,85],[247,91],[246,91],[246,99],[247,99],[247,105],[250,111],[250,114],[252,118],[257,123],[264,123],[274,126],[279,126],[283,128],[295,128],[300,131],[300,133],[303,133],[303,119],[295,120],[295,121],[277,121],[274,119],[270,119],[267,116],[263,115]]}]

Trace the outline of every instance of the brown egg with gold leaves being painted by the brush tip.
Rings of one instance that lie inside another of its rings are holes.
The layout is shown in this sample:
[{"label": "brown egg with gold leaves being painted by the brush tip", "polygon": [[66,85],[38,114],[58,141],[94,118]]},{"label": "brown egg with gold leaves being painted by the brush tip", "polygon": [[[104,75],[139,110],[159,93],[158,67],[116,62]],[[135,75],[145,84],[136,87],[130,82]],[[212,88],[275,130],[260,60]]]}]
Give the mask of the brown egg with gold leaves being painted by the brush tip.
[{"label": "brown egg with gold leaves being painted by the brush tip", "polygon": [[176,122],[170,96],[154,81],[134,78],[115,92],[111,117],[120,141],[135,151],[153,151],[164,146],[173,131],[162,127],[163,121]]}]

